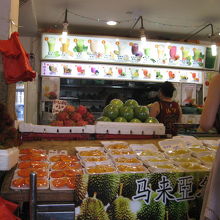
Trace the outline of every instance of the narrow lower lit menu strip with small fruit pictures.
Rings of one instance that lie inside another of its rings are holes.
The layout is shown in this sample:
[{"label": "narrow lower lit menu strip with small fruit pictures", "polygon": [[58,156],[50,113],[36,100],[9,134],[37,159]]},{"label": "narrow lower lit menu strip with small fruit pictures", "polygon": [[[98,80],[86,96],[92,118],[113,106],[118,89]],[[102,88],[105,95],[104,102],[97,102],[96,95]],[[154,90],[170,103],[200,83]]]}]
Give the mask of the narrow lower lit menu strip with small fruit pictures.
[{"label": "narrow lower lit menu strip with small fruit pictures", "polygon": [[202,84],[203,71],[128,65],[41,62],[42,76]]}]

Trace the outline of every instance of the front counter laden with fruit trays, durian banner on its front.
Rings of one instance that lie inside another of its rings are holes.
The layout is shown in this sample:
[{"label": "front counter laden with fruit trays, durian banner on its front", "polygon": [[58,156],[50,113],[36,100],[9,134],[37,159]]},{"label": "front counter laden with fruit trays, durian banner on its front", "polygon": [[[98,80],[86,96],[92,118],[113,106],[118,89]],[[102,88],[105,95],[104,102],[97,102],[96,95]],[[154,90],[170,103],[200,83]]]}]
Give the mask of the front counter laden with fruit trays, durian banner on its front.
[{"label": "front counter laden with fruit trays, durian banner on its front", "polygon": [[[217,140],[186,136],[25,142],[1,195],[27,202],[29,174],[34,171],[39,177],[37,201],[73,202],[77,219],[90,214],[96,219],[100,213],[101,219],[115,220],[118,215],[198,219],[217,147]],[[117,209],[122,204],[124,213]]]}]

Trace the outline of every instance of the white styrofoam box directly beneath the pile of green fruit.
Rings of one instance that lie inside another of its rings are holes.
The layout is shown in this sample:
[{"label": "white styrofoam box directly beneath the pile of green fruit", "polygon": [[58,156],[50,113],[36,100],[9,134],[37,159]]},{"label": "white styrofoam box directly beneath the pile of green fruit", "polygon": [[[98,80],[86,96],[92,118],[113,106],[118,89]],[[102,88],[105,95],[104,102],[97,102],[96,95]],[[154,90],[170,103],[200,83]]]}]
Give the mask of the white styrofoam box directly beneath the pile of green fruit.
[{"label": "white styrofoam box directly beneath the pile of green fruit", "polygon": [[136,134],[136,135],[164,135],[165,127],[161,123],[129,123],[102,122],[96,123],[97,134]]}]

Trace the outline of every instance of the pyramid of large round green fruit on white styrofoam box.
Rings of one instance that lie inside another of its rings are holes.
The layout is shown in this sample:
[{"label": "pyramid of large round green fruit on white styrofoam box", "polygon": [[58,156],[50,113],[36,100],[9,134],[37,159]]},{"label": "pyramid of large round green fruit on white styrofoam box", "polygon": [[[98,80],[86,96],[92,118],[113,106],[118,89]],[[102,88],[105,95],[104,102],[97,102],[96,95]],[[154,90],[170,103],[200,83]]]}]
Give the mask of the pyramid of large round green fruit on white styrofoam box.
[{"label": "pyramid of large round green fruit on white styrofoam box", "polygon": [[107,122],[134,122],[134,123],[158,123],[156,118],[149,116],[149,109],[141,106],[134,99],[128,99],[123,103],[120,99],[111,100],[105,106],[103,116],[98,121]]}]

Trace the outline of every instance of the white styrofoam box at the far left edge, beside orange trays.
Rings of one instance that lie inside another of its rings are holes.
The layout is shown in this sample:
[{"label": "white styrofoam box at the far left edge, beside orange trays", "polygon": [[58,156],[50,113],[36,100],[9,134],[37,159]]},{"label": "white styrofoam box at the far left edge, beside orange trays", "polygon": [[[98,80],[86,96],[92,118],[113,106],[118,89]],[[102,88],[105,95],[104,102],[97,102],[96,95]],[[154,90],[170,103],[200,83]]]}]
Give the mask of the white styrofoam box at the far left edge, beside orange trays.
[{"label": "white styrofoam box at the far left edge, beside orange trays", "polygon": [[19,150],[12,147],[0,150],[0,170],[10,170],[18,162]]}]

